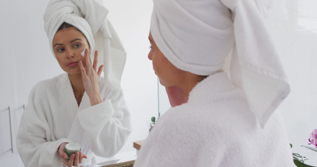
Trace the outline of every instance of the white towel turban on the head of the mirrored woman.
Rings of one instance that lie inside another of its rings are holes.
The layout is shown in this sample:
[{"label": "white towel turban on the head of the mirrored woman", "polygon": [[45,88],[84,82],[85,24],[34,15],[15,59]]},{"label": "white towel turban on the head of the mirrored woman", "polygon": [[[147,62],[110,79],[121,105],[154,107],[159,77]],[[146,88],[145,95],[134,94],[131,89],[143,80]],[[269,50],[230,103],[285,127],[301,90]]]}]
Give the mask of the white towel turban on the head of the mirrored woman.
[{"label": "white towel turban on the head of the mirrored woman", "polygon": [[99,52],[98,66],[104,65],[106,84],[119,89],[126,52],[107,14],[108,10],[94,0],[51,0],[44,14],[44,29],[54,55],[53,39],[61,24],[66,22],[78,28],[86,36],[91,51]]}]

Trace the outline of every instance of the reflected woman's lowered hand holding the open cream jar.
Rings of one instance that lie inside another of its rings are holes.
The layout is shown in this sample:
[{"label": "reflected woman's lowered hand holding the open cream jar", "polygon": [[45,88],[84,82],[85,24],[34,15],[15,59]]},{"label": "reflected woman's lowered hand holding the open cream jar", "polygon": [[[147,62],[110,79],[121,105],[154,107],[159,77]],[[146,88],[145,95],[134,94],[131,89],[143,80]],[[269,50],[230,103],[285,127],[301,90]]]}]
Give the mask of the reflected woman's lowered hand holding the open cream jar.
[{"label": "reflected woman's lowered hand holding the open cream jar", "polygon": [[69,161],[66,161],[68,155],[64,152],[65,145],[67,143],[62,143],[58,149],[58,153],[60,154],[60,157],[64,164],[66,164],[68,167],[72,166],[78,166],[82,162],[82,158],[87,158],[86,155],[82,154],[82,152],[76,152],[76,154],[73,154],[70,156]]}]

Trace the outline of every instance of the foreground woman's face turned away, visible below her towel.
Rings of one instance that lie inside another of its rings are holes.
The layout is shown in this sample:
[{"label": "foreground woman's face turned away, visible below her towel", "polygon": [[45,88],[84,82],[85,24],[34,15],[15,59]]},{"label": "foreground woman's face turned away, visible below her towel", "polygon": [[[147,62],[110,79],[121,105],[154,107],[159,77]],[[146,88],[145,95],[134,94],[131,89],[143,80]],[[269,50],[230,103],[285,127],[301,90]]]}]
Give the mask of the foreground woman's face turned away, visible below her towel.
[{"label": "foreground woman's face turned away, visible below her towel", "polygon": [[149,35],[149,40],[151,43],[151,50],[148,58],[152,60],[153,70],[155,74],[159,77],[159,81],[163,86],[178,86],[181,81],[184,80],[186,71],[180,70],[175,67],[171,62],[166,59],[163,53],[156,46],[151,32]]}]

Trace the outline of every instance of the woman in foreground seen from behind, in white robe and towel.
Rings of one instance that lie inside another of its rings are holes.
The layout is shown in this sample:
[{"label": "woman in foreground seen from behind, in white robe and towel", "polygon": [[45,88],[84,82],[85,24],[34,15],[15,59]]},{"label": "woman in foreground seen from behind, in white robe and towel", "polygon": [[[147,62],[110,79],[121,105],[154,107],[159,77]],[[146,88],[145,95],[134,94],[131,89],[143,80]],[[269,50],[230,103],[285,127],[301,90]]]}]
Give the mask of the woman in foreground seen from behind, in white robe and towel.
[{"label": "woman in foreground seen from behind, in white robe and towel", "polygon": [[[153,69],[172,107],[151,130],[135,167],[288,167],[279,112],[289,85],[260,0],[154,0]],[[230,78],[223,72],[232,50]]]}]

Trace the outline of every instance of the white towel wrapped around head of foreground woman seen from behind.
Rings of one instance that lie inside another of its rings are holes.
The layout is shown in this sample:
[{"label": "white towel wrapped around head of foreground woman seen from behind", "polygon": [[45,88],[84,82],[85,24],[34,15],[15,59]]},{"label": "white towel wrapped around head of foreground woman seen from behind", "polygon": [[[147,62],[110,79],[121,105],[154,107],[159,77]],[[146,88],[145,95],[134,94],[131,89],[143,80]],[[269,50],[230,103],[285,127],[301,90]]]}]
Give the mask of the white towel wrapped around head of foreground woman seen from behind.
[{"label": "white towel wrapped around head of foreground woman seen from behind", "polygon": [[[230,75],[260,125],[289,93],[286,75],[264,23],[271,0],[154,0],[151,33],[177,68],[197,75]],[[233,20],[233,21],[232,21]]]}]

